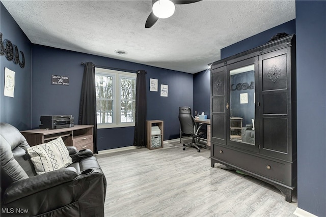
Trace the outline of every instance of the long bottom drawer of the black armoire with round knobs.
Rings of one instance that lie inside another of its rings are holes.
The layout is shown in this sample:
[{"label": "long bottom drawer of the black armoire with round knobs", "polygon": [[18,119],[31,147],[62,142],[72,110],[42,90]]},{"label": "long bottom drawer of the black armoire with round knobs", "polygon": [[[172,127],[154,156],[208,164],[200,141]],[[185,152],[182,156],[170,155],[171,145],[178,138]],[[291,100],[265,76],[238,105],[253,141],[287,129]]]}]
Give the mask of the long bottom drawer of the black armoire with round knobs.
[{"label": "long bottom drawer of the black armoire with round knobs", "polygon": [[214,145],[214,158],[279,182],[285,182],[285,165],[276,161]]}]

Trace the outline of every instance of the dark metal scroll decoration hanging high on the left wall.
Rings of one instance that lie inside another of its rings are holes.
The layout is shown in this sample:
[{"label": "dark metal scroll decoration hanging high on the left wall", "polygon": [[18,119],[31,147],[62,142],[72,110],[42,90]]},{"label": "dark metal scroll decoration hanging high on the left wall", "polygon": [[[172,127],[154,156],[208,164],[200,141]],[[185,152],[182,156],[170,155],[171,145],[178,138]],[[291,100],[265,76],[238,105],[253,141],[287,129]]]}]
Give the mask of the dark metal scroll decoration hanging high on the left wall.
[{"label": "dark metal scroll decoration hanging high on the left wall", "polygon": [[6,55],[6,58],[9,61],[13,61],[14,64],[19,64],[20,68],[25,67],[25,56],[22,51],[20,51],[22,55],[22,61],[19,59],[18,47],[11,43],[11,41],[5,39],[2,40],[2,33],[0,33],[0,55]]}]

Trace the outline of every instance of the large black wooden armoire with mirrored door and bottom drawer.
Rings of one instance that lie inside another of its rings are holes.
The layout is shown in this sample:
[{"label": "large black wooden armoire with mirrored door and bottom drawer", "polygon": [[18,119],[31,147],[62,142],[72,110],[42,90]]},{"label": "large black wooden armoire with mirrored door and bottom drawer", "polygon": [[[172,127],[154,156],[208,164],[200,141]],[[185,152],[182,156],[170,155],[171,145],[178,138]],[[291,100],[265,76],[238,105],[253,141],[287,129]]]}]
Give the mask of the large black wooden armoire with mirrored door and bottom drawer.
[{"label": "large black wooden armoire with mirrored door and bottom drawer", "polygon": [[275,185],[296,188],[295,36],[211,66],[211,167],[221,163]]}]

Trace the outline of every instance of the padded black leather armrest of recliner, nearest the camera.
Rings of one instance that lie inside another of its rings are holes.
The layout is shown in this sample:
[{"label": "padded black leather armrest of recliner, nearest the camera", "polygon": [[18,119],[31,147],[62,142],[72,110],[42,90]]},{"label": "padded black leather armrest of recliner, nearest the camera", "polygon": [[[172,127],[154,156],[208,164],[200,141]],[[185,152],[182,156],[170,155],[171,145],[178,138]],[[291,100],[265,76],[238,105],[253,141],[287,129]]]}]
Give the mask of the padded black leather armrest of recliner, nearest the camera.
[{"label": "padded black leather armrest of recliner, nearest the camera", "polygon": [[76,178],[77,175],[75,168],[67,167],[13,182],[4,193],[4,203],[10,203],[45,189],[50,189],[56,185],[69,182]]}]

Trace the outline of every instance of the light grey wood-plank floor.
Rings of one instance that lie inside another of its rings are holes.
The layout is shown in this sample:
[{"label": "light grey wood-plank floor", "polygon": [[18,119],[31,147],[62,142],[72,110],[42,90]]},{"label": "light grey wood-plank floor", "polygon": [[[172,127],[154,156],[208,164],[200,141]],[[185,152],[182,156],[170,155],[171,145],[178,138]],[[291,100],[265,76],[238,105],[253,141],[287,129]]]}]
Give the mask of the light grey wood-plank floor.
[{"label": "light grey wood-plank floor", "polygon": [[107,180],[105,216],[295,216],[272,185],[210,167],[210,151],[138,148],[96,157]]}]

